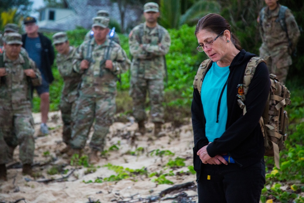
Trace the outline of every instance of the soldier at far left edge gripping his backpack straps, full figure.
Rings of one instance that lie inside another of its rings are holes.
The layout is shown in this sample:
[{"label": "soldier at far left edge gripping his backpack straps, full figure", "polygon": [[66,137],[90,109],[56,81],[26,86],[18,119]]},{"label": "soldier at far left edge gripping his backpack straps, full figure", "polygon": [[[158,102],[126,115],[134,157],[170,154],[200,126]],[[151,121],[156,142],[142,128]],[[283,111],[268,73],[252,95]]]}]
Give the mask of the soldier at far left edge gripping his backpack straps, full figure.
[{"label": "soldier at far left edge gripping his backpack straps, full figure", "polygon": [[[0,55],[0,128],[9,149],[9,160],[19,145],[22,173],[32,174],[34,158],[34,120],[31,112],[31,86],[41,84],[41,74],[34,61],[20,54],[19,33],[5,35]],[[0,161],[2,163],[2,161]],[[5,164],[0,165],[0,173]]]}]

